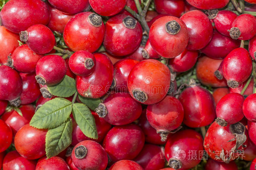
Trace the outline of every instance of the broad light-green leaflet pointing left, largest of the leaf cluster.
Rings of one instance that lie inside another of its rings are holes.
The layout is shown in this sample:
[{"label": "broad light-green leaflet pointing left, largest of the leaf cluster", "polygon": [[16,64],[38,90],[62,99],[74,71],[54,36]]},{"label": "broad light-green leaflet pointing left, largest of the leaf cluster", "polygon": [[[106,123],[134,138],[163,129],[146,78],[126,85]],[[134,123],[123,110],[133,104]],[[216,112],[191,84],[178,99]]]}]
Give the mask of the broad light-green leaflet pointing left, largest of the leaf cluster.
[{"label": "broad light-green leaflet pointing left, largest of the leaf cluster", "polygon": [[30,120],[30,126],[52,129],[64,123],[72,111],[72,103],[64,98],[55,98],[43,104]]}]

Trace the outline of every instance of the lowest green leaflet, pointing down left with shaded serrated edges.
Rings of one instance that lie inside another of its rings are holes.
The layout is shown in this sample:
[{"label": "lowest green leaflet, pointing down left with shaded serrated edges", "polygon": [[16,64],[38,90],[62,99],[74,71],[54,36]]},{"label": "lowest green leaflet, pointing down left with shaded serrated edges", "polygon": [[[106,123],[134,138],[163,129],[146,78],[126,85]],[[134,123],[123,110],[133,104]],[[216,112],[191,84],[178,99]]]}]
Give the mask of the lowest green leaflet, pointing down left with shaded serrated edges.
[{"label": "lowest green leaflet, pointing down left with shaded serrated edges", "polygon": [[46,133],[45,151],[47,158],[64,151],[72,142],[72,120],[69,118],[60,126],[49,129]]}]

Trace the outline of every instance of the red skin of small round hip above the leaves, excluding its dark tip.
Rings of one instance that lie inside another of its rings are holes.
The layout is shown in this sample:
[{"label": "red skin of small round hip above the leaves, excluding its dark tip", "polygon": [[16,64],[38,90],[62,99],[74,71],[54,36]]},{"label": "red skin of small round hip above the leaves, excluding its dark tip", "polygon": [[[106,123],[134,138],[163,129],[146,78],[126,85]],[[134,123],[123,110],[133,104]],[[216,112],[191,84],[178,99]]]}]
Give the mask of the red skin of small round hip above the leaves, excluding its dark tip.
[{"label": "red skin of small round hip above the leaves, excluding its dark tip", "polygon": [[[92,59],[94,62],[94,66],[91,69],[87,69],[84,66],[84,62],[86,59]],[[96,59],[93,54],[88,51],[80,50],[76,51],[72,54],[68,61],[68,66],[70,70],[78,76],[88,76],[93,73],[96,66]]]}]

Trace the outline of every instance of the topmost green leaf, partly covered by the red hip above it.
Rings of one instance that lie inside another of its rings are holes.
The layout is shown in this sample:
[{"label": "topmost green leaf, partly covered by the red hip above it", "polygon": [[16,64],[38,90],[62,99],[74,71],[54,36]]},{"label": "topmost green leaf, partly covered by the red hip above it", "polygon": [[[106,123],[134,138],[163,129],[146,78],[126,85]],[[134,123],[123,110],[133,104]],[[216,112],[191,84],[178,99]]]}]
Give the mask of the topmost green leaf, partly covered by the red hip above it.
[{"label": "topmost green leaf, partly covered by the red hip above it", "polygon": [[76,82],[73,78],[65,75],[64,79],[54,86],[48,86],[49,92],[54,96],[67,98],[76,92]]}]

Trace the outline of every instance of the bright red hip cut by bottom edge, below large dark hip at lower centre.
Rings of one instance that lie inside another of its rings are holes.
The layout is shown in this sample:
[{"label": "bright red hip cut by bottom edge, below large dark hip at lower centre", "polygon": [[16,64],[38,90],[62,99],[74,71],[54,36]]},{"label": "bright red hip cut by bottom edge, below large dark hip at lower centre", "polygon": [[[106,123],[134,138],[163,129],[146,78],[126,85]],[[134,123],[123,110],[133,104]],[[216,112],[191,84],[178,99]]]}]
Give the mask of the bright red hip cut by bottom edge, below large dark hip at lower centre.
[{"label": "bright red hip cut by bottom edge, below large dark hip at lower centre", "polygon": [[109,170],[143,170],[143,168],[136,162],[130,160],[121,160],[114,163]]}]

